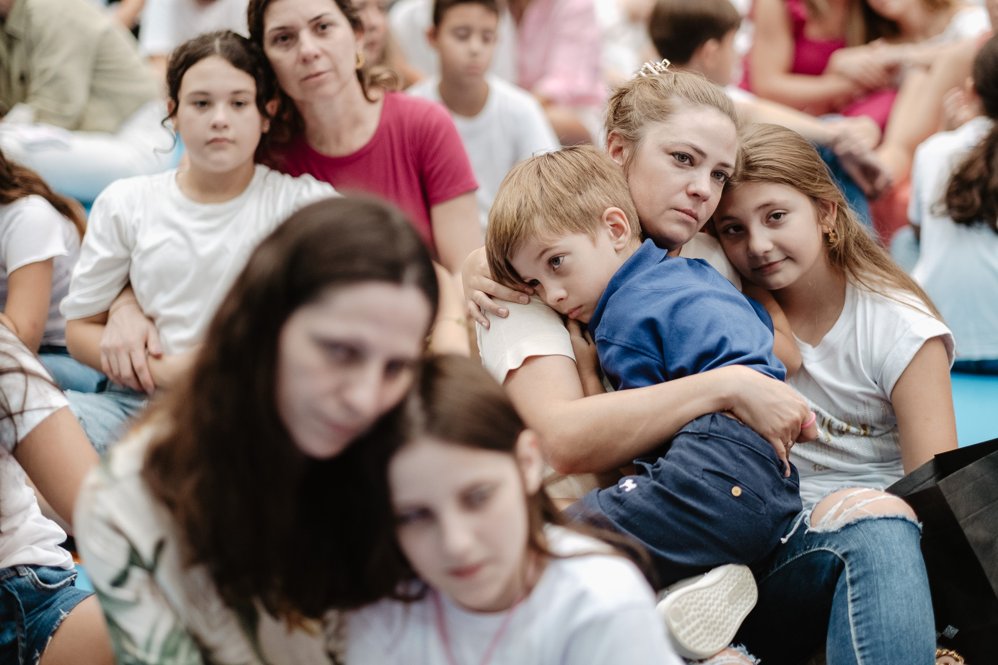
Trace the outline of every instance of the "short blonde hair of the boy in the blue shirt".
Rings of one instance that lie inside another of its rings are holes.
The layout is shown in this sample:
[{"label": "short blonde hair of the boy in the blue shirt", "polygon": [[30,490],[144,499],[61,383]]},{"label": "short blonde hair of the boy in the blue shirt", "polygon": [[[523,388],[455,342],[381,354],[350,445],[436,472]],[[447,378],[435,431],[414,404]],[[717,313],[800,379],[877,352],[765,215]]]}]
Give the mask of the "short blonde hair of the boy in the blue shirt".
[{"label": "short blonde hair of the boy in the blue shirt", "polygon": [[596,237],[608,207],[624,211],[632,235],[640,240],[638,211],[624,171],[592,146],[564,148],[513,166],[499,185],[485,230],[493,278],[504,284],[522,281],[510,259],[534,238]]}]

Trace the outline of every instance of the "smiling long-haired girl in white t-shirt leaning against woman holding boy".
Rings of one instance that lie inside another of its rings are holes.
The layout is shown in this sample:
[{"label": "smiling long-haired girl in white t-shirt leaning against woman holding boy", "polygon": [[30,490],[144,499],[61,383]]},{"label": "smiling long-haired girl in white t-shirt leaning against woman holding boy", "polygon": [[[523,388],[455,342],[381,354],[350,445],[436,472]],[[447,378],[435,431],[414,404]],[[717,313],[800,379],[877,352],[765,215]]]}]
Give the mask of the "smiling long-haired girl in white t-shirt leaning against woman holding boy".
[{"label": "smiling long-haired girl in white t-shirt leaning against woman holding boy", "polygon": [[772,292],[802,357],[788,383],[817,414],[793,447],[804,504],[884,488],[956,448],[953,337],[925,292],[870,238],[813,148],[753,128],[714,221],[743,277]]}]

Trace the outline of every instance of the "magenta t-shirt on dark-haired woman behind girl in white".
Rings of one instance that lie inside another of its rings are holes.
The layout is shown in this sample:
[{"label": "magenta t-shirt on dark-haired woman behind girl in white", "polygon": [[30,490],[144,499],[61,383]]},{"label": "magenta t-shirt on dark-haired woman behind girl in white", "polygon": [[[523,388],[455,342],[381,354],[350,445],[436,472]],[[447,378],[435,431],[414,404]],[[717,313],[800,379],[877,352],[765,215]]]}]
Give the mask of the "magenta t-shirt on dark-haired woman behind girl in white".
[{"label": "magenta t-shirt on dark-haired woman behind girl in white", "polygon": [[397,205],[431,249],[430,206],[478,188],[447,110],[402,93],[385,94],[374,136],[355,153],[328,157],[298,137],[280,157],[275,166],[285,173],[308,173],[340,193],[374,194]]}]

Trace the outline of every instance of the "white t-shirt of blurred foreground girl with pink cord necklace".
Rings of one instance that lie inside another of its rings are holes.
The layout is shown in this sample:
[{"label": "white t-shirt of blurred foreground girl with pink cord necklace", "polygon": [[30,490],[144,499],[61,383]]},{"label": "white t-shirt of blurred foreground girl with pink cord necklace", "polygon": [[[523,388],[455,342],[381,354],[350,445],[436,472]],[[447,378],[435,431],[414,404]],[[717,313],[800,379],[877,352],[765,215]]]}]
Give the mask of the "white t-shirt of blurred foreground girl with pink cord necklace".
[{"label": "white t-shirt of blurred foreground girl with pink cord necklace", "polygon": [[458,663],[482,662],[507,620],[490,660],[496,665],[683,662],[667,642],[652,589],[633,563],[603,553],[606,545],[589,536],[558,527],[548,527],[548,536],[552,550],[581,555],[552,558],[512,616],[469,612],[434,591],[412,603],[382,600],[349,616],[345,661],[447,665],[436,596]]}]

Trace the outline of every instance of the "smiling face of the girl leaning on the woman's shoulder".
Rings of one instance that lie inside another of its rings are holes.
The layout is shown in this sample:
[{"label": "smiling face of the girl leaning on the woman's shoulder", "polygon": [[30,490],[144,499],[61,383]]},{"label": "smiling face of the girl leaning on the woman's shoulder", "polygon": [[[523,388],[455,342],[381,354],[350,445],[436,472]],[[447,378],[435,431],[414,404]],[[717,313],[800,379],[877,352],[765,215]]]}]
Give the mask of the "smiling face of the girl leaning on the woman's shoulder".
[{"label": "smiling face of the girl leaning on the woman's shoulder", "polygon": [[746,182],[725,192],[714,215],[725,254],[750,282],[778,290],[824,260],[834,203],[815,205],[786,184]]}]

